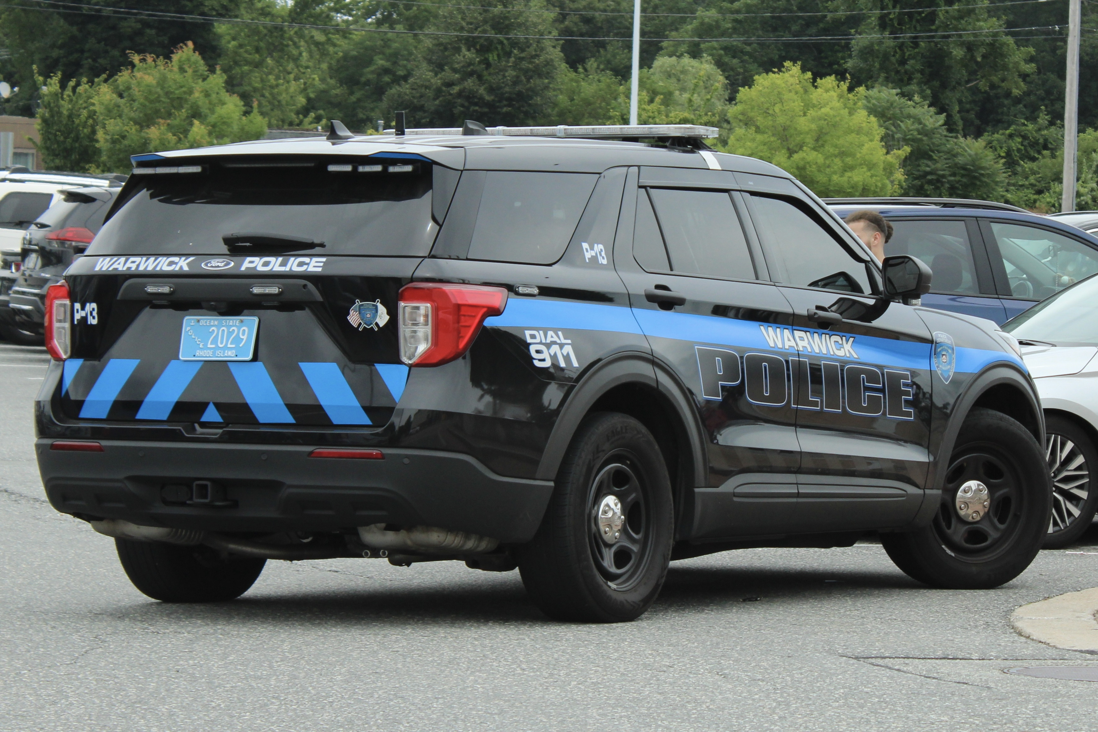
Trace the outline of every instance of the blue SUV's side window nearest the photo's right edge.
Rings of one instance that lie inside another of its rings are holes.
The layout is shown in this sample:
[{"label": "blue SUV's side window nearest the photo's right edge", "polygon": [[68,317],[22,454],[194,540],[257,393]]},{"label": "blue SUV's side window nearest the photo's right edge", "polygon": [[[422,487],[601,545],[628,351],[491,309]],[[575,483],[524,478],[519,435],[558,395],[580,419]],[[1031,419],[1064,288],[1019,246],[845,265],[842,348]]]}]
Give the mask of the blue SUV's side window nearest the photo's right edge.
[{"label": "blue SUV's side window nearest the photo's right edge", "polygon": [[1044,300],[1098,272],[1098,251],[1034,226],[991,222],[1015,297]]}]

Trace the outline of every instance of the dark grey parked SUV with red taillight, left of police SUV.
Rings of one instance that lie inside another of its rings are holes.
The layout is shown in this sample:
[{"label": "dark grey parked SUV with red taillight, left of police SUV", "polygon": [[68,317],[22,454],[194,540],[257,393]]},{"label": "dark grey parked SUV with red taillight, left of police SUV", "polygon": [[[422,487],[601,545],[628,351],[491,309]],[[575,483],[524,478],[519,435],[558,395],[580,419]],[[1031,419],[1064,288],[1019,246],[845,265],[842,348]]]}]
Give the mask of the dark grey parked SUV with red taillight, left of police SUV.
[{"label": "dark grey parked SUV with red taillight, left of police SUV", "polygon": [[9,340],[41,344],[46,290],[59,282],[103,225],[121,188],[77,188],[49,206],[23,235],[22,269],[10,291]]}]

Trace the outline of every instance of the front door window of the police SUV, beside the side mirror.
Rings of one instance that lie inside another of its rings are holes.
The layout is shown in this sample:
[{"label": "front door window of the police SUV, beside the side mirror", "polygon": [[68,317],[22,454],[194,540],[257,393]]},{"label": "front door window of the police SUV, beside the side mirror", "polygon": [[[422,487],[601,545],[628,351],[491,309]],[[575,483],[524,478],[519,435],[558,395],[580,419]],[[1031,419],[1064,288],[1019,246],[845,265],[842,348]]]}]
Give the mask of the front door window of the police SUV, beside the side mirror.
[{"label": "front door window of the police SUV, beside the side mirror", "polygon": [[[803,288],[871,292],[865,264],[821,222],[792,200],[752,195],[760,234],[785,269],[783,282]],[[768,260],[769,261],[769,260]]]}]

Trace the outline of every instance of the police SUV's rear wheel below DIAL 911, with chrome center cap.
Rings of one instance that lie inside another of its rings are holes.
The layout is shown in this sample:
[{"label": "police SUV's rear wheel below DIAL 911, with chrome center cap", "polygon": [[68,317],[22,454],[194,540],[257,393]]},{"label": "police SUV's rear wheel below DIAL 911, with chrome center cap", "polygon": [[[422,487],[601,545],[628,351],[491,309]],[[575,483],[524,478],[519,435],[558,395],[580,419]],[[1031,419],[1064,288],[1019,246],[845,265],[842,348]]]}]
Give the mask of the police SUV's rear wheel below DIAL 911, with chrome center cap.
[{"label": "police SUV's rear wheel below DIAL 911, with chrome center cap", "polygon": [[561,462],[538,532],[518,548],[526,590],[554,620],[639,618],[671,563],[673,513],[668,469],[651,432],[627,415],[589,416]]}]

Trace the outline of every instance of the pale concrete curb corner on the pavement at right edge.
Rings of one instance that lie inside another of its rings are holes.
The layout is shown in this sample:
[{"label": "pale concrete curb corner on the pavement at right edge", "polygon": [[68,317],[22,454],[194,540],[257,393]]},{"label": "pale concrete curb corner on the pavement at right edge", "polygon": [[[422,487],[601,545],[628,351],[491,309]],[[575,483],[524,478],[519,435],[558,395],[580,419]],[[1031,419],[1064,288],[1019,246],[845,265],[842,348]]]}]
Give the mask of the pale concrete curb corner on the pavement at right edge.
[{"label": "pale concrete curb corner on the pavement at right edge", "polygon": [[1098,654],[1098,587],[1023,605],[1010,624],[1026,638],[1068,651]]}]

